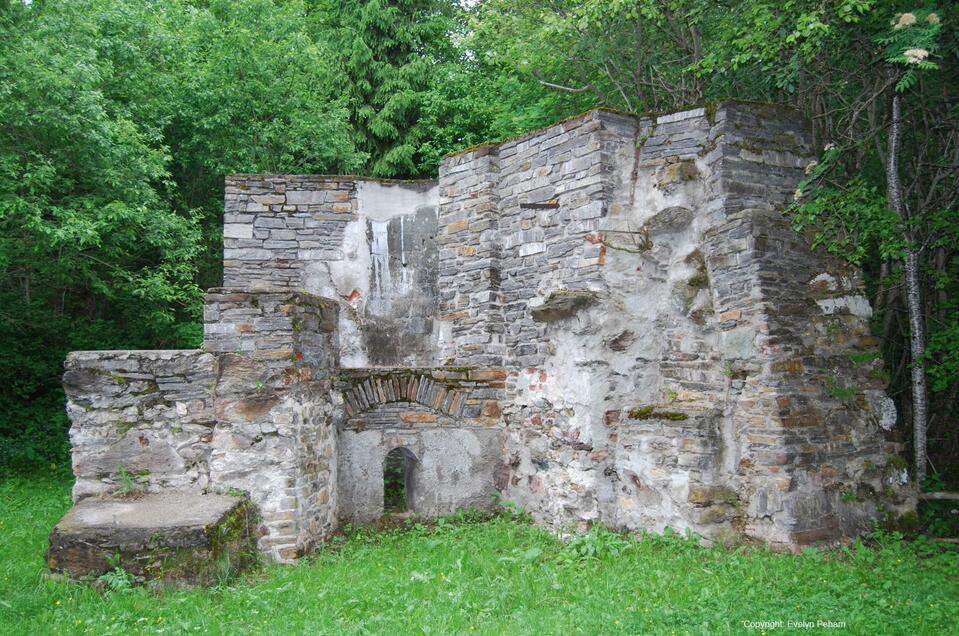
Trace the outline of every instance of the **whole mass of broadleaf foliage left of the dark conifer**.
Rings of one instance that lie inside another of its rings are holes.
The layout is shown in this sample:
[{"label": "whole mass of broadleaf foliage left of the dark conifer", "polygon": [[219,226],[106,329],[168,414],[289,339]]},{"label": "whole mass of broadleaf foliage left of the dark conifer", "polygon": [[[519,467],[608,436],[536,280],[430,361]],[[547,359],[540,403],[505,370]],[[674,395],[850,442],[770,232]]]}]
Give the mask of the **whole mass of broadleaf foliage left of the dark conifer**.
[{"label": "whole mass of broadleaf foliage left of the dark conifer", "polygon": [[296,3],[13,3],[0,36],[2,472],[64,462],[67,351],[199,345],[224,174],[364,156]]}]

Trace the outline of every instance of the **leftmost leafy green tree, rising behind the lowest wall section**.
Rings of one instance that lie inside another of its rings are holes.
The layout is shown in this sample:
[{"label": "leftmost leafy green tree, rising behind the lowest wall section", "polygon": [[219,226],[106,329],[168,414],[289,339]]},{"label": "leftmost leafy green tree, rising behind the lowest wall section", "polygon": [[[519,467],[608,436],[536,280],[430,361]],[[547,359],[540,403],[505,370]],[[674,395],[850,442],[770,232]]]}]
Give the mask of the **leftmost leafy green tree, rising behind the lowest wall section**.
[{"label": "leftmost leafy green tree, rising behind the lowest wall section", "polygon": [[115,12],[45,7],[0,13],[0,471],[62,461],[66,351],[179,345],[199,309],[198,219],[164,200],[155,129],[111,95]]}]

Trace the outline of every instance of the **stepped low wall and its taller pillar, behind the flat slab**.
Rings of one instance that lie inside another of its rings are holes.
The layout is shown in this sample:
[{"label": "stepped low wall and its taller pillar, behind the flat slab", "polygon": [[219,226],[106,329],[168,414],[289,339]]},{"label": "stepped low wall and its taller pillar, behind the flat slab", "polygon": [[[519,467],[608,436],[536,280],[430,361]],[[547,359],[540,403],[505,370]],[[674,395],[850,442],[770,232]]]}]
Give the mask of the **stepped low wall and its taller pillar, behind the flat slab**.
[{"label": "stepped low wall and its taller pillar, behind the flat slab", "polygon": [[292,290],[211,290],[204,318],[204,351],[68,356],[74,500],[115,492],[121,465],[148,492],[242,491],[263,551],[295,558],[337,521],[336,308]]}]

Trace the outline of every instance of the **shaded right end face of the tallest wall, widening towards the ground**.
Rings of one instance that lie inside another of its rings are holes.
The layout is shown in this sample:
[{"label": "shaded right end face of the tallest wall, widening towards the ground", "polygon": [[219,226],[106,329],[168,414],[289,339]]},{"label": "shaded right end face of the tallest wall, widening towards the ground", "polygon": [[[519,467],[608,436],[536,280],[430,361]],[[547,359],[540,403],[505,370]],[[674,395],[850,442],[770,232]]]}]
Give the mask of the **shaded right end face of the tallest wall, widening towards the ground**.
[{"label": "shaded right end face of the tallest wall, widening towards the ground", "polygon": [[904,484],[888,488],[896,445],[877,426],[888,398],[861,276],[810,249],[783,214],[814,157],[801,115],[731,102],[716,126],[723,216],[705,252],[730,375],[727,470],[745,532],[786,546],[857,533],[880,508],[910,500]]}]

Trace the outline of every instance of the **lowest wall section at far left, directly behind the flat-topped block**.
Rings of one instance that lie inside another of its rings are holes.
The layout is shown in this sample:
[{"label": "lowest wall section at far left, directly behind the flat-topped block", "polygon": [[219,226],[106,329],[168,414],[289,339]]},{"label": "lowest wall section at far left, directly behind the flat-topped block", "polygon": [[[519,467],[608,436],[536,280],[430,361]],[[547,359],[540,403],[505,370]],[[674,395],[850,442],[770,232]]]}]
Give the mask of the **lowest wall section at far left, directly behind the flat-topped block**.
[{"label": "lowest wall section at far left, directly behind the flat-topped block", "polygon": [[65,368],[74,499],[118,491],[121,467],[149,491],[210,485],[214,356],[74,351]]}]

